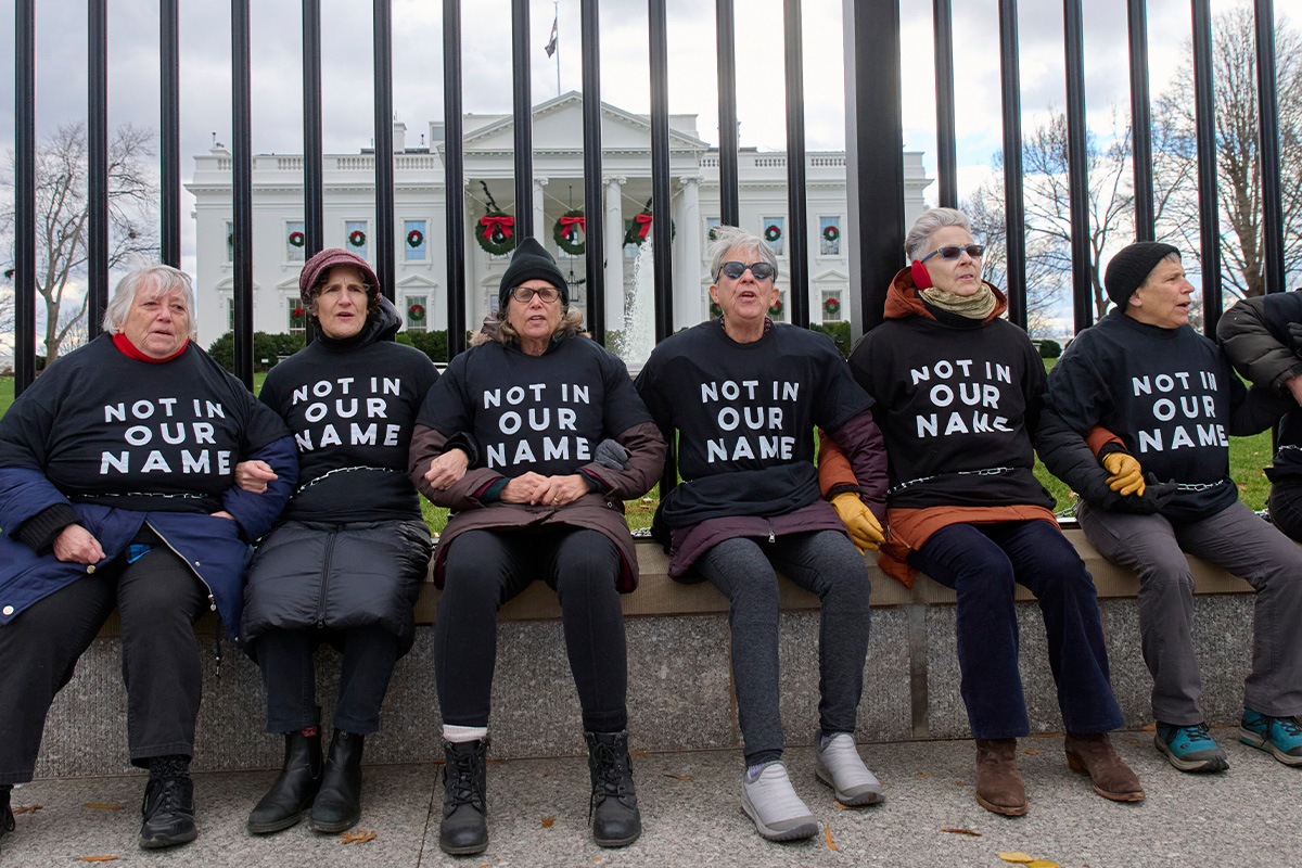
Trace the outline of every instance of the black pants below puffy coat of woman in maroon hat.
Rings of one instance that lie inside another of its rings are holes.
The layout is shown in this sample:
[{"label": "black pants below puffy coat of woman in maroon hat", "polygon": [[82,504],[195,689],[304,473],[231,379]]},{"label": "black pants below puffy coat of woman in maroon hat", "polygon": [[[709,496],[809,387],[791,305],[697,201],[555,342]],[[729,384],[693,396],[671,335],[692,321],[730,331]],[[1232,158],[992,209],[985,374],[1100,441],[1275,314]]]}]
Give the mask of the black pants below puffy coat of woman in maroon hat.
[{"label": "black pants below puffy coat of woman in maroon hat", "polygon": [[398,658],[398,638],[384,627],[353,630],[272,630],[258,636],[254,651],[267,687],[267,731],[289,733],[315,726],[316,668],[312,652],[323,642],[342,655],[335,726],[346,733],[380,729],[380,705]]}]

